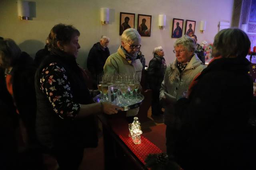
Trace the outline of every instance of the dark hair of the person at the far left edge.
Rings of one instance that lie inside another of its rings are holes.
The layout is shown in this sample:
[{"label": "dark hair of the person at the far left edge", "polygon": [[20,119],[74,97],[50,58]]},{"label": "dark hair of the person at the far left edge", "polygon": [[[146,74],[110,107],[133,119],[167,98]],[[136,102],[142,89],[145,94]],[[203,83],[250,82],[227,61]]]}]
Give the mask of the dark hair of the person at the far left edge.
[{"label": "dark hair of the person at the far left edge", "polygon": [[0,41],[0,53],[2,54],[3,67],[13,66],[16,59],[20,57],[21,50],[12,39],[4,39]]}]

